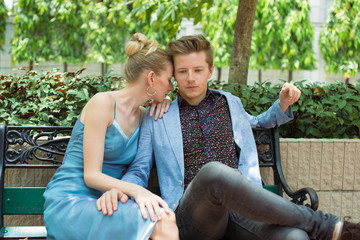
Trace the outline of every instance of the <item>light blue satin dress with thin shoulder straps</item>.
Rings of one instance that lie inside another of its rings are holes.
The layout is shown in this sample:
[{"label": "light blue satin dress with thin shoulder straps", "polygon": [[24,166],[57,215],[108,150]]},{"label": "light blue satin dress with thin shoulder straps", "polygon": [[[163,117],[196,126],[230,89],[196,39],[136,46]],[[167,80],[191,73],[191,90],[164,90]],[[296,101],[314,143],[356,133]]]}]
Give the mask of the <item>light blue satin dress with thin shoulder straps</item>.
[{"label": "light blue satin dress with thin shoulder straps", "polygon": [[[115,104],[116,109],[116,104]],[[124,169],[135,157],[140,124],[128,138],[116,121],[107,128],[103,173],[121,179]],[[112,216],[104,216],[96,208],[102,192],[85,185],[83,158],[84,125],[77,120],[66,150],[64,161],[44,193],[44,222],[48,239],[148,239],[155,222],[144,220],[132,199]]]}]

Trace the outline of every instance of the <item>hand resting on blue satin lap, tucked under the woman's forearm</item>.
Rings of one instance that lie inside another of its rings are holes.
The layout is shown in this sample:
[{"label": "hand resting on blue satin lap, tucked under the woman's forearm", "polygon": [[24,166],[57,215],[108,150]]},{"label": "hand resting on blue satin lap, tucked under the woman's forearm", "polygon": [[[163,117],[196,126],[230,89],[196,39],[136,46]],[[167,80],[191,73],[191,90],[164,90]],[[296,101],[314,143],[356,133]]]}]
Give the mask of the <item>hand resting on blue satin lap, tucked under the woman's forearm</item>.
[{"label": "hand resting on blue satin lap, tucked under the woman's forearm", "polygon": [[112,188],[96,200],[96,207],[104,215],[112,216],[113,212],[117,210],[119,200],[122,203],[126,203],[128,196],[120,190]]}]

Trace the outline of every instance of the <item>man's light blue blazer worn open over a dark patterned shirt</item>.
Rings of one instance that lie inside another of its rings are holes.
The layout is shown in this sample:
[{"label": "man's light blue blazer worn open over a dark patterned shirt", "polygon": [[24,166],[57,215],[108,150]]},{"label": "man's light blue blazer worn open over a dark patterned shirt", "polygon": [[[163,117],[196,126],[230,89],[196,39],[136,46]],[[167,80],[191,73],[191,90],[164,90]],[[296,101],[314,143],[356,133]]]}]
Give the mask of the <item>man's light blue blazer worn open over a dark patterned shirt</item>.
[{"label": "man's light blue blazer worn open over a dark patterned shirt", "polygon": [[[293,119],[291,108],[283,113],[277,100],[266,112],[254,117],[245,112],[238,97],[218,92],[226,97],[229,105],[234,140],[240,148],[238,169],[250,181],[262,186],[251,128],[279,126]],[[175,99],[169,111],[157,121],[149,116],[148,111],[141,126],[138,152],[122,180],[146,187],[155,159],[161,196],[175,210],[184,192],[184,152],[178,101]]]}]

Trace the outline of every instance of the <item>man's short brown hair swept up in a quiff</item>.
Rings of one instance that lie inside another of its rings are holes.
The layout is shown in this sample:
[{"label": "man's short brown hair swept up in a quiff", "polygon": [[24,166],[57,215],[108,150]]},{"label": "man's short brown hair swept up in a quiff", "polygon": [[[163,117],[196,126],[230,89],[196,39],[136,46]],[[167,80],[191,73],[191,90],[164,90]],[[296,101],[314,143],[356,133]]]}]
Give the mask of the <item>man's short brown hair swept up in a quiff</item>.
[{"label": "man's short brown hair swept up in a quiff", "polygon": [[205,60],[209,68],[213,66],[214,50],[211,43],[202,34],[184,36],[178,40],[169,42],[166,51],[168,51],[172,58],[174,58],[176,54],[190,54],[204,51],[206,55]]}]

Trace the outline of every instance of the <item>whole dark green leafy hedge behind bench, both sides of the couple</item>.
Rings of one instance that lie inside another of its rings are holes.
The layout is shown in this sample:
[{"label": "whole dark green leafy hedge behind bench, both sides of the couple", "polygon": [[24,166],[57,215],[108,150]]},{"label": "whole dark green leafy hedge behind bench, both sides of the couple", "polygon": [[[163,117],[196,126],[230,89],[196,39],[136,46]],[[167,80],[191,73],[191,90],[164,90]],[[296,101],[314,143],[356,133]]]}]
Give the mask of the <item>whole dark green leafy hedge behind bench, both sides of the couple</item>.
[{"label": "whole dark green leafy hedge behind bench, both sides of the couple", "polygon": [[[0,76],[0,123],[12,125],[73,125],[86,102],[97,92],[121,88],[121,77],[81,77],[77,73],[31,71],[23,76]],[[294,121],[280,127],[282,137],[360,138],[359,84],[305,84],[293,105]],[[282,84],[249,85],[209,83],[209,87],[239,96],[246,111],[258,115],[278,98]],[[171,93],[176,96],[177,89]]]}]

